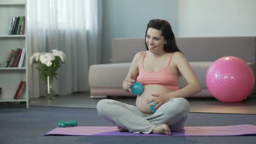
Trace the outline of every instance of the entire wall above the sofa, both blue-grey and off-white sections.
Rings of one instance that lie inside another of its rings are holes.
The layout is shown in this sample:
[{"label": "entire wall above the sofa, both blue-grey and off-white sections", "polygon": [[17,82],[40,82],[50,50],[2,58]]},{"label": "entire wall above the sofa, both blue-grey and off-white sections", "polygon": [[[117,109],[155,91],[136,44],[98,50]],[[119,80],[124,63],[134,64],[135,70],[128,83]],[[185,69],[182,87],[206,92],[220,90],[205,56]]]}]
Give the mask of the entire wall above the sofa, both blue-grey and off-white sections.
[{"label": "entire wall above the sofa, both blue-grey and off-white sections", "polygon": [[103,0],[102,63],[112,58],[113,38],[143,38],[157,18],[176,37],[256,36],[256,0]]}]

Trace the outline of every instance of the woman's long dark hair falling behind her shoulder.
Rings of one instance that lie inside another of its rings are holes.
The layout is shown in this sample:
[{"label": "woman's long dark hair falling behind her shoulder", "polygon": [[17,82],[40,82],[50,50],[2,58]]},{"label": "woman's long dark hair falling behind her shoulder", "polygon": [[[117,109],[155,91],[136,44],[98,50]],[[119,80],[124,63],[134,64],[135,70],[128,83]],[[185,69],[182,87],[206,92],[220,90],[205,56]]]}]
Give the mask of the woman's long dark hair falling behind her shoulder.
[{"label": "woman's long dark hair falling behind her shoulder", "polygon": [[162,36],[164,36],[164,39],[166,40],[166,44],[164,45],[164,52],[181,52],[181,50],[178,48],[176,44],[174,33],[172,32],[170,23],[167,20],[159,20],[159,19],[150,20],[148,23],[146,35],[145,35],[145,44],[146,44],[147,50],[148,50],[148,46],[146,42],[146,36],[148,33],[148,28],[161,30]]}]

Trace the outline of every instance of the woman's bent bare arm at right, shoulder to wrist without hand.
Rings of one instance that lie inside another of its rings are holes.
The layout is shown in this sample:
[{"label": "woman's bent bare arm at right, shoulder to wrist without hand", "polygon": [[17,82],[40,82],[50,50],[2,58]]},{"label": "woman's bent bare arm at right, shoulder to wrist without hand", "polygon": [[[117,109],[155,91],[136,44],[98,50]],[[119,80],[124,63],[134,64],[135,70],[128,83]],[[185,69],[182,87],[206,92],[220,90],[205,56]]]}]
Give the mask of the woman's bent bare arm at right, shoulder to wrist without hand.
[{"label": "woman's bent bare arm at right, shoulder to wrist without hand", "polygon": [[171,98],[186,98],[191,95],[197,94],[201,92],[201,84],[188,63],[186,57],[181,52],[174,52],[173,58],[175,60],[175,65],[177,65],[177,69],[187,81],[187,86],[177,90],[175,92],[168,93],[167,96]]}]

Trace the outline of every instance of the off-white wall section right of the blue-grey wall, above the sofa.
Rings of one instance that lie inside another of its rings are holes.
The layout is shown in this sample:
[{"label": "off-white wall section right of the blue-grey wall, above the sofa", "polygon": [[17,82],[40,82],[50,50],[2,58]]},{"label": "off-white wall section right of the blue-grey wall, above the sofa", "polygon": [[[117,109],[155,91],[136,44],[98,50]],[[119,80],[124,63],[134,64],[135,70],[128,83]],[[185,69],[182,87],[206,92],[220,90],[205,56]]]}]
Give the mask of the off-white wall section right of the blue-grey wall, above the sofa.
[{"label": "off-white wall section right of the blue-grey wall, above the sofa", "polygon": [[256,0],[179,0],[179,37],[256,36]]}]

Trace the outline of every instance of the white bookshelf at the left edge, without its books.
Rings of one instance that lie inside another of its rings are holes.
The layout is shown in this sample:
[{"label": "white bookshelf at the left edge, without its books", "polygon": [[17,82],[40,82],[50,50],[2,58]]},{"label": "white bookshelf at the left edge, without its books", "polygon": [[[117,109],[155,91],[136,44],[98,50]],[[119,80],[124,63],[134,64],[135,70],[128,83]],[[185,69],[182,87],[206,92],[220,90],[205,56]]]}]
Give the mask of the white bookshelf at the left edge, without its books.
[{"label": "white bookshelf at the left edge, without its books", "polygon": [[[27,24],[25,22],[24,35],[8,35],[12,16],[27,16],[26,0],[0,0],[0,87],[2,88],[0,102],[24,101],[26,102],[26,108],[29,108]],[[16,50],[17,48],[26,48],[22,67],[3,67],[11,49]],[[13,97],[21,81],[26,81],[25,91],[20,99],[14,99]]]}]

